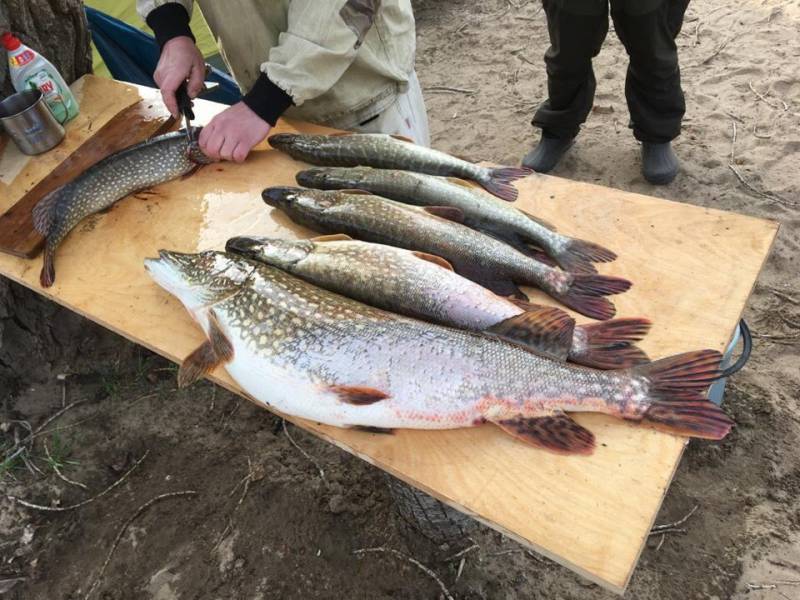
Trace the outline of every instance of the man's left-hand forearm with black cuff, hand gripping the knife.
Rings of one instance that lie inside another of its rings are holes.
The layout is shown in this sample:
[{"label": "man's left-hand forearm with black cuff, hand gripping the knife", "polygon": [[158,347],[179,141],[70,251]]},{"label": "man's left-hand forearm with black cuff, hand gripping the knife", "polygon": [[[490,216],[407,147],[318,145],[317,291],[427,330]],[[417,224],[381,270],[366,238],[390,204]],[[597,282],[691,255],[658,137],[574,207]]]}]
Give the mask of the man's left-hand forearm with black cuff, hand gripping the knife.
[{"label": "man's left-hand forearm with black cuff, hand gripping the knife", "polygon": [[161,0],[137,0],[136,8],[156,36],[161,57],[153,73],[153,80],[161,90],[167,110],[179,117],[175,91],[181,83],[189,80],[187,91],[194,98],[203,88],[205,61],[194,43],[189,27],[192,1],[164,2]]}]

